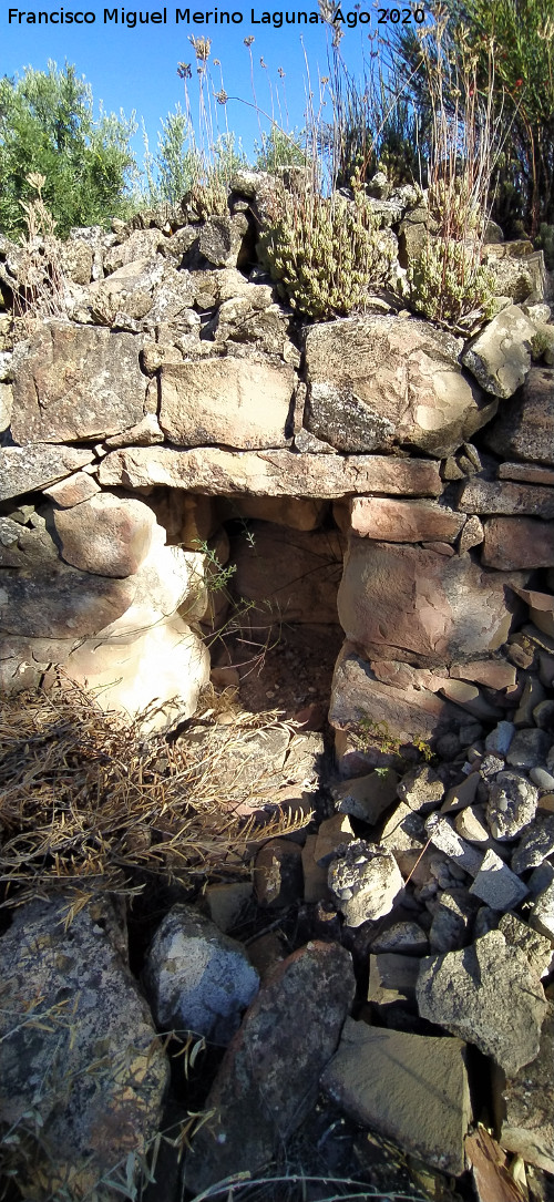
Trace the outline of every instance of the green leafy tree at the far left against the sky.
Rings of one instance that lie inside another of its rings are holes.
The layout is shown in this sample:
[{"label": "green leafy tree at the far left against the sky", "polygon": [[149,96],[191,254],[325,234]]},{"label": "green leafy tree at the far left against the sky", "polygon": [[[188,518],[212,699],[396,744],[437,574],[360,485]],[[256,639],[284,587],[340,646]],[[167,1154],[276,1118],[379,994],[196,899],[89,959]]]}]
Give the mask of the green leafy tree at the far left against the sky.
[{"label": "green leafy tree at the far left against the sky", "polygon": [[89,84],[67,64],[0,79],[0,231],[14,237],[22,228],[31,173],[44,177],[44,204],[60,236],[124,215],[135,130],[123,114],[100,112],[95,119]]}]

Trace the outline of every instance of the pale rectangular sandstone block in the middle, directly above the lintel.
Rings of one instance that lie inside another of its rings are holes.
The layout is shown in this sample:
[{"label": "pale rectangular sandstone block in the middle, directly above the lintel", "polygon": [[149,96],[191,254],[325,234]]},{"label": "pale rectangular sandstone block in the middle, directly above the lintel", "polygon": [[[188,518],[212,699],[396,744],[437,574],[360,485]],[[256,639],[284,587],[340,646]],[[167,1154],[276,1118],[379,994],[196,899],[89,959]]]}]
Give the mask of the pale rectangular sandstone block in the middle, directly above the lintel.
[{"label": "pale rectangular sandstone block in the middle, directly above the lintel", "polygon": [[286,363],[232,357],[162,367],[161,428],[179,446],[282,447],[294,380]]}]

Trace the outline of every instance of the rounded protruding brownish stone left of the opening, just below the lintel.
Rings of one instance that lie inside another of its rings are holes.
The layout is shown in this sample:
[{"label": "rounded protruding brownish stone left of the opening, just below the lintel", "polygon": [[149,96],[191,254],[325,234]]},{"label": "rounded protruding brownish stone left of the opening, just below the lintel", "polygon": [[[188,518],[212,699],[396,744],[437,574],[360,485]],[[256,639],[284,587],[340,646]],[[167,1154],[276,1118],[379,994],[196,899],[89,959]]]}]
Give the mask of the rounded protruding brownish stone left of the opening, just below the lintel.
[{"label": "rounded protruding brownish stone left of the opening, just below the lintel", "polygon": [[144,501],[111,493],[54,511],[66,564],[96,576],[133,576],[148,555],[155,524]]}]

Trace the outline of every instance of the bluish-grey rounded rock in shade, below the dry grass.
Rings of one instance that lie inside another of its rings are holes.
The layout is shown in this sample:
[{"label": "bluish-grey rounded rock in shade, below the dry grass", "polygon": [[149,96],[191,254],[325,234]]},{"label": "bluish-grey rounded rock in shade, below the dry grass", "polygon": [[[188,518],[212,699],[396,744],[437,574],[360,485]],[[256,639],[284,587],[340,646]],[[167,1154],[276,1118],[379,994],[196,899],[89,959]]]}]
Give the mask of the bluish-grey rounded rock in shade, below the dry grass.
[{"label": "bluish-grey rounded rock in shade, below the dry grass", "polygon": [[240,944],[193,906],[172,906],[144,966],[144,987],[159,1027],[228,1043],[258,984]]}]

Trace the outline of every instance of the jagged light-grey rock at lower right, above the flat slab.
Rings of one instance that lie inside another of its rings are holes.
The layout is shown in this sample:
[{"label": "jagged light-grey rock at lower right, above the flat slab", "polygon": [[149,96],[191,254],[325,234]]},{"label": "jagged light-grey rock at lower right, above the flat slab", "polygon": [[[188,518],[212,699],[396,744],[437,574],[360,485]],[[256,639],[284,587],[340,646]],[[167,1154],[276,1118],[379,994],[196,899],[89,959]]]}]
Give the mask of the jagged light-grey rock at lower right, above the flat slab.
[{"label": "jagged light-grey rock at lower right, above the flat slab", "polygon": [[423,959],[417,1001],[423,1018],[475,1043],[508,1075],[538,1052],[544,990],[525,953],[499,930]]}]

